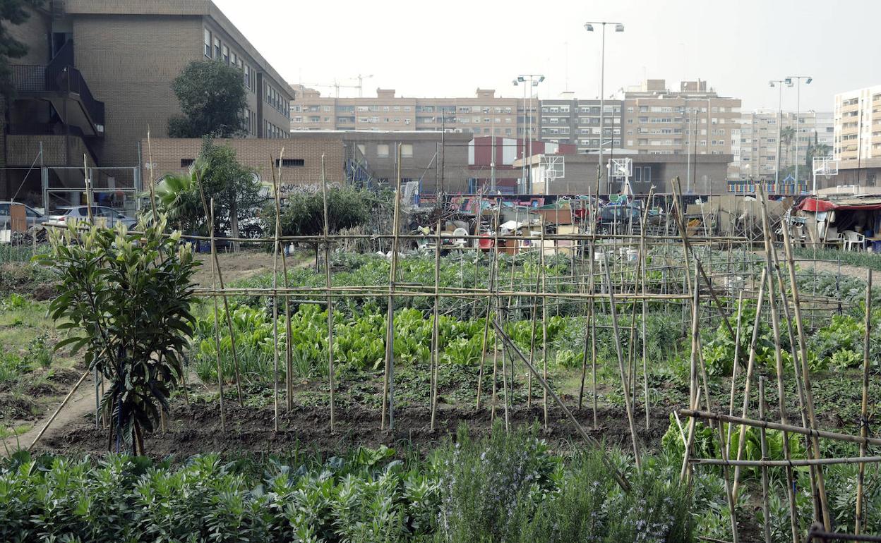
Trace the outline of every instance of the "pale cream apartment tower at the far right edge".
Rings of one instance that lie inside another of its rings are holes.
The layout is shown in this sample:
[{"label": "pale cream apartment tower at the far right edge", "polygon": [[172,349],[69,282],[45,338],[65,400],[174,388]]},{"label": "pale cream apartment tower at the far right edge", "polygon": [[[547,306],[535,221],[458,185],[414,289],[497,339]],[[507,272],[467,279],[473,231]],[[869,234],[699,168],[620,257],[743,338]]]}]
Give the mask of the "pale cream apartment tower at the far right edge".
[{"label": "pale cream apartment tower at the far right edge", "polygon": [[835,95],[833,153],[842,167],[881,158],[881,85]]}]

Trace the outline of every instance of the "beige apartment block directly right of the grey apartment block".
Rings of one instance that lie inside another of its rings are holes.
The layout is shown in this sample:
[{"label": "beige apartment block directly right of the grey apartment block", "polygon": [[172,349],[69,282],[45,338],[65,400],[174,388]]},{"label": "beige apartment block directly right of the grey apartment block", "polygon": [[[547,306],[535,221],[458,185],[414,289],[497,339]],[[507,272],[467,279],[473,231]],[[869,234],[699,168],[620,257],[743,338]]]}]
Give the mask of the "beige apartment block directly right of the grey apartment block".
[{"label": "beige apartment block directly right of the grey apartment block", "polygon": [[[649,154],[732,154],[740,105],[706,81],[683,81],[673,92],[663,79],[648,79],[625,92],[624,147]],[[732,165],[729,176],[738,174]]]}]

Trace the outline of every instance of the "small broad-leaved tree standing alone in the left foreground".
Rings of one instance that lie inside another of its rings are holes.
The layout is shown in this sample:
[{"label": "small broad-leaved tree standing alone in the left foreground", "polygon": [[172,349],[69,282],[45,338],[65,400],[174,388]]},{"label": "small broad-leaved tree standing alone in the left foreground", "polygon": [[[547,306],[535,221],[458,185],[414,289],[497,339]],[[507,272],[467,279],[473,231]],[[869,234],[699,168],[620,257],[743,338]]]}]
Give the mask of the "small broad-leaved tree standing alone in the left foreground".
[{"label": "small broad-leaved tree standing alone in the left foreground", "polygon": [[60,280],[49,304],[60,329],[71,335],[56,345],[85,349],[85,363],[110,383],[101,408],[110,422],[108,447],[120,441],[144,453],[144,431],[152,431],[159,410],[183,375],[182,352],[195,319],[191,277],[196,267],[180,232],[163,232],[166,217],[155,224],[141,218],[129,233],[91,227],[51,234],[52,250],[35,257]]}]

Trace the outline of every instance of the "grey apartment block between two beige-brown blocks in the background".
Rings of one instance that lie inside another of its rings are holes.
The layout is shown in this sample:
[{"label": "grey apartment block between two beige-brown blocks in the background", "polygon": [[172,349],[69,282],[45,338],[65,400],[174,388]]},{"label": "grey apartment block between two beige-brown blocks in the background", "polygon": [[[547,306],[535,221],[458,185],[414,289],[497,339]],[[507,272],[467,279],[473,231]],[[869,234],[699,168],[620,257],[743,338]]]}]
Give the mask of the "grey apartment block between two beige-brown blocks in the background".
[{"label": "grey apartment block between two beige-brown blocks in the background", "polygon": [[600,135],[600,100],[576,99],[572,92],[564,92],[559,99],[541,101],[541,132],[539,138],[548,143],[575,145],[580,153],[596,152],[621,147],[621,100],[603,104],[603,132]]}]

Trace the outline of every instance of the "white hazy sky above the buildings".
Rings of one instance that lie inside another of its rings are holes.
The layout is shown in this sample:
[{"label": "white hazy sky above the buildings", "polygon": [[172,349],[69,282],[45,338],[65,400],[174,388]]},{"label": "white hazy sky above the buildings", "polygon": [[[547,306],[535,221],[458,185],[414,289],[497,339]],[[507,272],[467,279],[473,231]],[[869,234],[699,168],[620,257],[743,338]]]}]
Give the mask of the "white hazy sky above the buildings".
[{"label": "white hazy sky above the buildings", "polygon": [[[776,108],[768,80],[809,75],[802,109],[832,111],[836,92],[881,84],[881,0],[214,2],[289,83],[356,84],[372,74],[365,96],[377,87],[472,96],[481,87],[522,97],[511,80],[541,73],[541,98],[596,97],[600,33],[585,32],[587,20],[626,26],[606,33],[607,96],[645,77],[670,88],[700,77],[743,99],[744,110]],[[784,89],[783,107],[796,108],[795,89]]]}]

